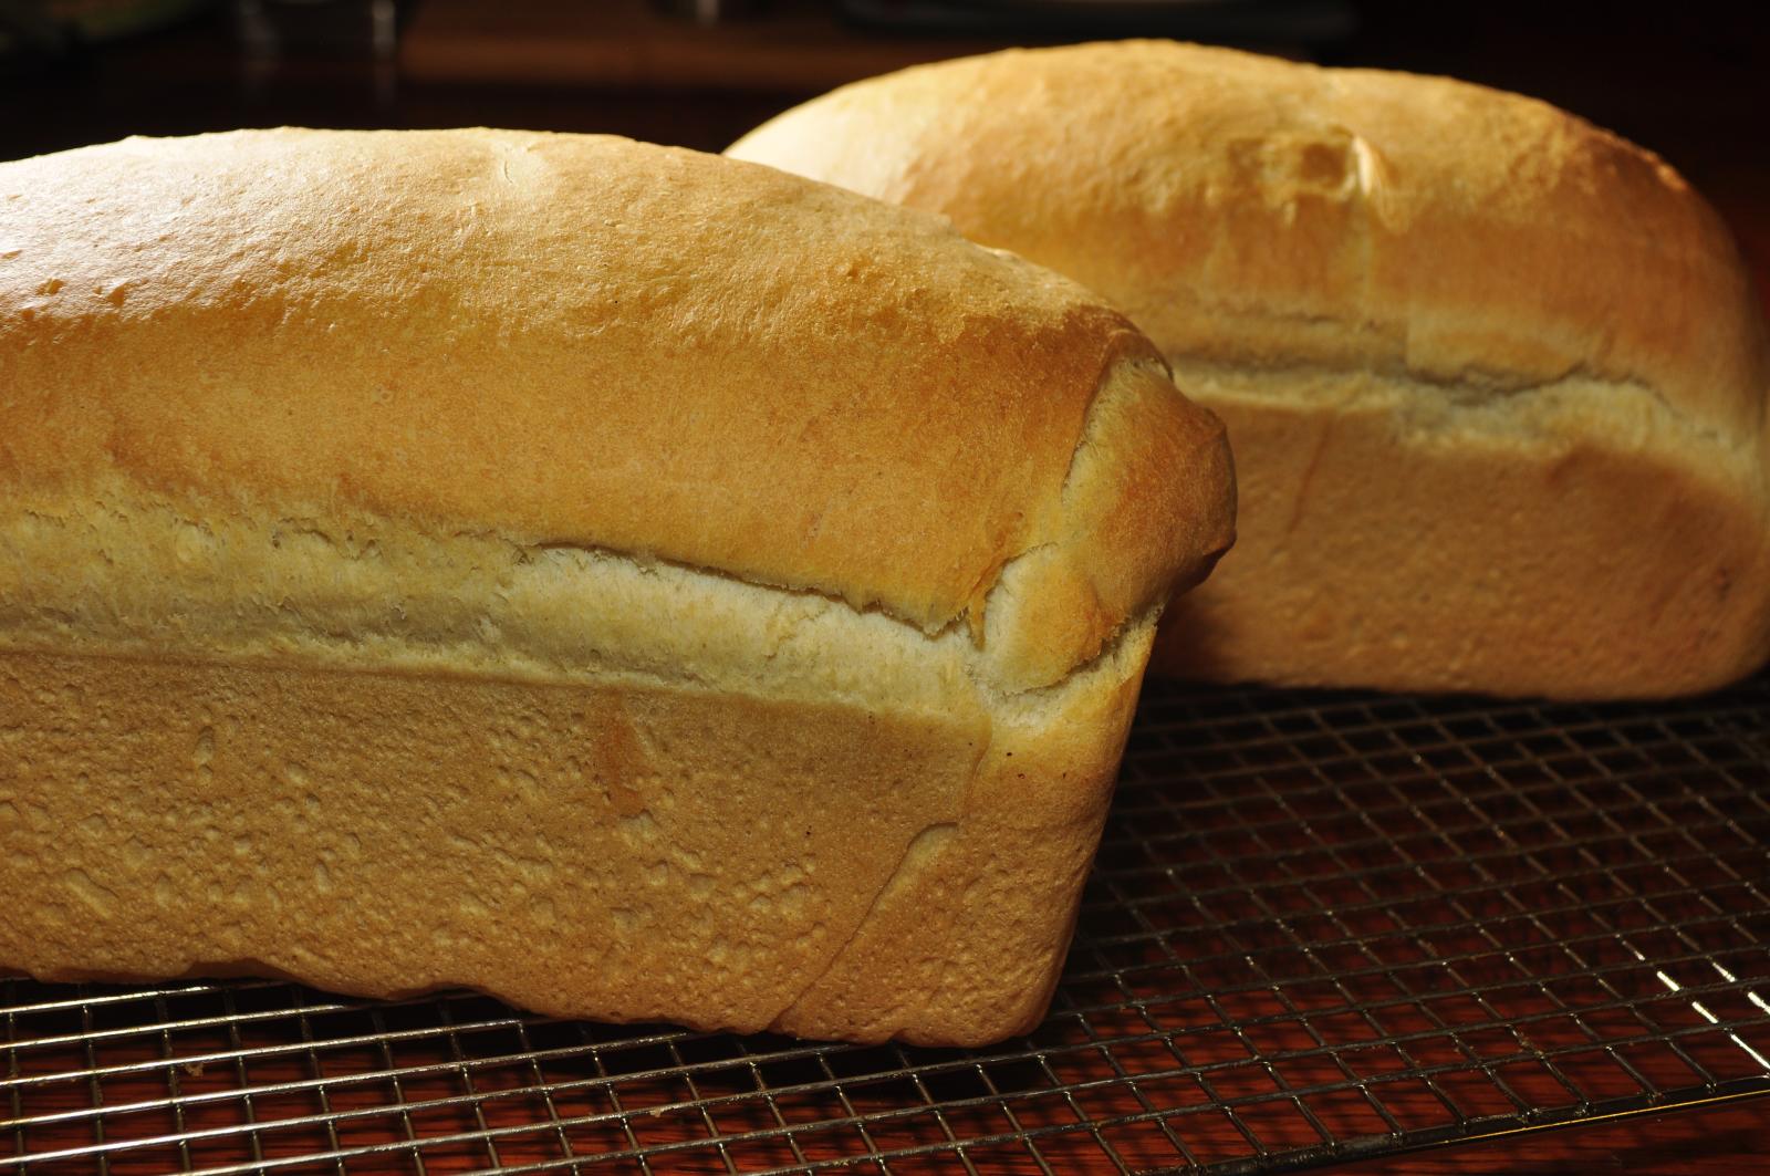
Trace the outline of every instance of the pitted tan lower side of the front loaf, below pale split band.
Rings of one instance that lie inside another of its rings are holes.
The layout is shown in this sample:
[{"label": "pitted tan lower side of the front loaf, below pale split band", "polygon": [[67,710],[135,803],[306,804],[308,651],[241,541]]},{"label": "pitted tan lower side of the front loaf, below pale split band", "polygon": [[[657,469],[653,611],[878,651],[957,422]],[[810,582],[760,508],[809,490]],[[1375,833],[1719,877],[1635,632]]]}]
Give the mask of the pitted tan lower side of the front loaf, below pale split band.
[{"label": "pitted tan lower side of the front loaf, below pale split band", "polygon": [[0,965],[998,1040],[1050,999],[1152,632],[1032,726],[0,654]]}]

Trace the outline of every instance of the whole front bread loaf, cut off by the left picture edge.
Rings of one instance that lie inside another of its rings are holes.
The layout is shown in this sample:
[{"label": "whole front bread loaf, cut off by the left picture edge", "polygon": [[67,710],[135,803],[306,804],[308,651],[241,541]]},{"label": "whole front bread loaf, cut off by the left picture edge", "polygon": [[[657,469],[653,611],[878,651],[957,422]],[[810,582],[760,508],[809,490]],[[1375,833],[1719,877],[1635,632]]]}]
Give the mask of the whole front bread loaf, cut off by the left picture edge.
[{"label": "whole front bread loaf, cut off by the left picture edge", "polygon": [[1027,1029],[1232,494],[1094,296],[770,168],[0,165],[0,969]]}]

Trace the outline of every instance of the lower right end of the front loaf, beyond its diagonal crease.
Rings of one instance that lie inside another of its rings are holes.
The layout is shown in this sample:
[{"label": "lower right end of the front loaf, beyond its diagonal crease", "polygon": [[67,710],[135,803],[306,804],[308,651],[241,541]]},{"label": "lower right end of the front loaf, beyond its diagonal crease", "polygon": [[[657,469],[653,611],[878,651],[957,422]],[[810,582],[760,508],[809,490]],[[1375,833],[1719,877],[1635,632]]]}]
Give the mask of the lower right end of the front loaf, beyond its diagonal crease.
[{"label": "lower right end of the front loaf, beyond its diagonal crease", "polygon": [[1156,613],[1062,684],[997,700],[956,822],[924,829],[770,1029],[975,1047],[1044,1017],[1099,845]]}]

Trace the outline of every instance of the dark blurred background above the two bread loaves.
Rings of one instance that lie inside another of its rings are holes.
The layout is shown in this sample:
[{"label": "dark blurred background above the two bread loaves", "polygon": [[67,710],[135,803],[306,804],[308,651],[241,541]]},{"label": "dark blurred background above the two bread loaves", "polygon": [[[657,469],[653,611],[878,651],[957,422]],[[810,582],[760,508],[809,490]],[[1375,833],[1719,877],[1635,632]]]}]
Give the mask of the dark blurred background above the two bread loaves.
[{"label": "dark blurred background above the two bread loaves", "polygon": [[0,158],[237,126],[512,126],[719,151],[832,85],[1172,35],[1446,73],[1671,159],[1770,271],[1770,4],[0,0]]}]

